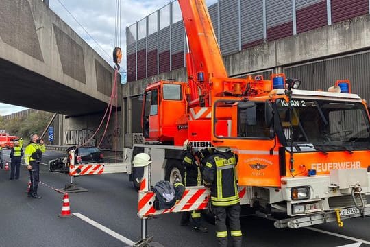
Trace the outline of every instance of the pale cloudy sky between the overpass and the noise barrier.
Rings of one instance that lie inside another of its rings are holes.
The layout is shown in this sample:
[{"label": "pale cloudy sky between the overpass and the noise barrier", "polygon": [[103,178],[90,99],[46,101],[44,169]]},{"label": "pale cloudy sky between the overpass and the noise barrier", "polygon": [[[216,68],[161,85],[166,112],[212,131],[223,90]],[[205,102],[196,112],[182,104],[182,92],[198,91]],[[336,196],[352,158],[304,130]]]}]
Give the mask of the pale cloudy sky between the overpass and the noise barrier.
[{"label": "pale cloudy sky between the overpass and the noise barrier", "polygon": [[[126,69],[126,27],[136,21],[140,21],[145,16],[155,12],[164,5],[169,4],[169,0],[121,0],[121,49],[123,51],[123,61],[121,68]],[[216,3],[217,0],[206,0],[207,5]],[[82,28],[67,10],[82,25]],[[115,44],[115,0],[49,0],[49,6],[53,12],[72,27],[100,56],[112,64],[112,51]],[[84,29],[93,37],[86,34]],[[95,43],[95,40],[97,43]],[[25,110],[24,107],[11,106],[0,103],[0,115],[8,115]]]}]

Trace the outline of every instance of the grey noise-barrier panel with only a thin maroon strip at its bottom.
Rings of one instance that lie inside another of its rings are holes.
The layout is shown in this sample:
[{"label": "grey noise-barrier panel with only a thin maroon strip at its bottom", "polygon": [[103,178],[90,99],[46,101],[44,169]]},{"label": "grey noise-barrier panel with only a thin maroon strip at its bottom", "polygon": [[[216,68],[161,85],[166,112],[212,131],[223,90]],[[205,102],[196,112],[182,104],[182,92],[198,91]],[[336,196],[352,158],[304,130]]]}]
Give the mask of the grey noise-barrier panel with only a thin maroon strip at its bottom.
[{"label": "grey noise-barrier panel with only a thin maroon strip at its bottom", "polygon": [[241,1],[242,49],[263,42],[263,2],[260,0]]}]

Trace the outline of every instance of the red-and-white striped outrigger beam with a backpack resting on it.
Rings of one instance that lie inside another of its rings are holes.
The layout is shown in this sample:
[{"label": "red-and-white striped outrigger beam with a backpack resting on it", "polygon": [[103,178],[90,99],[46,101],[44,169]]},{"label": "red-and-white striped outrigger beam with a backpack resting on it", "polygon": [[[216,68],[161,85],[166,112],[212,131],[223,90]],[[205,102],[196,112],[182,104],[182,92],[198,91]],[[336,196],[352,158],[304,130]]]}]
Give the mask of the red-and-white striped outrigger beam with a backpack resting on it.
[{"label": "red-and-white striped outrigger beam with a backpack resting on it", "polygon": [[153,191],[139,191],[138,216],[147,217],[150,215],[160,215],[164,213],[177,213],[197,209],[206,209],[210,189],[206,187],[186,187],[182,199],[171,209],[156,210],[153,207],[156,195]]}]

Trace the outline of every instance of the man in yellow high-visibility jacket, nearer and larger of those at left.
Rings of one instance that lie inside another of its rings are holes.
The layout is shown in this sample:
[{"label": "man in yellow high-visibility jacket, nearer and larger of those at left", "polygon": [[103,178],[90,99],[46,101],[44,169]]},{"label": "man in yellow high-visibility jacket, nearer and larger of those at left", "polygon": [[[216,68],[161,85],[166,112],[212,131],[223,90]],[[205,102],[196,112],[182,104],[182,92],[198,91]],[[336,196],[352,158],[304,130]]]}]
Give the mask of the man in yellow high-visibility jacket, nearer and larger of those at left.
[{"label": "man in yellow high-visibility jacket, nearer and larger of those at left", "polygon": [[40,174],[40,161],[43,152],[45,152],[44,141],[40,140],[37,134],[31,134],[30,141],[25,148],[25,163],[29,170],[29,178],[31,179],[31,187],[28,196],[38,199],[41,198],[37,193],[37,189]]}]

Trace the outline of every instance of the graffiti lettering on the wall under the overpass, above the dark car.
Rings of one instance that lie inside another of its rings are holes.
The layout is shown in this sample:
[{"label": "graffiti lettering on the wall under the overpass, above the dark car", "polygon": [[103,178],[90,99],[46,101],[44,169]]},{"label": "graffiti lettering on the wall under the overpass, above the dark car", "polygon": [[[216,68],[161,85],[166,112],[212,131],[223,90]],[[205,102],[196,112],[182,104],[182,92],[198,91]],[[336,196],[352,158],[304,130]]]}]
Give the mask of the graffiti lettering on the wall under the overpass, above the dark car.
[{"label": "graffiti lettering on the wall under the overpass, above the dark car", "polygon": [[66,130],[64,132],[64,141],[66,145],[97,145],[97,139],[93,137],[94,130],[82,129],[82,130]]}]

